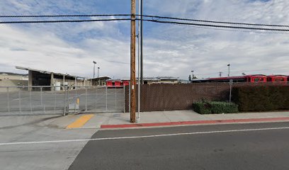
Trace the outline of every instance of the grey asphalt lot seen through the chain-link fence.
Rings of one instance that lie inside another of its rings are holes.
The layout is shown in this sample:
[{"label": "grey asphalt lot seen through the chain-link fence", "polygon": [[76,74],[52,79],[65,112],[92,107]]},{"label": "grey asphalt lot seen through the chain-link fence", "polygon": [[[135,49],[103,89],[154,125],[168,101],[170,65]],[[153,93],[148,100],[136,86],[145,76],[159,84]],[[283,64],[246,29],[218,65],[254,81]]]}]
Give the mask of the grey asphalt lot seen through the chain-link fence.
[{"label": "grey asphalt lot seen through the chain-link fence", "polygon": [[[0,115],[16,113],[62,114],[66,94],[64,91],[10,91],[0,93]],[[74,104],[79,98],[79,111],[123,111],[123,89],[77,89],[69,90],[67,103]],[[74,111],[74,110],[72,110]]]}]

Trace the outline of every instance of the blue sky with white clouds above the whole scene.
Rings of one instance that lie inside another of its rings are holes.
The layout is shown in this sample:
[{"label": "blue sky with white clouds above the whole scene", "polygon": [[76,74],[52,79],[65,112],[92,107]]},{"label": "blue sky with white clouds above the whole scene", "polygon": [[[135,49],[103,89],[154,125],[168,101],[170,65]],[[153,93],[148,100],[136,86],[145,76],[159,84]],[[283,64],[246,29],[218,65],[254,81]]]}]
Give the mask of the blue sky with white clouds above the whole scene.
[{"label": "blue sky with white clouds above the whole scene", "polygon": [[[146,15],[289,25],[288,0],[143,1]],[[130,13],[130,0],[0,0],[0,15],[113,13]],[[0,72],[26,73],[17,65],[92,77],[95,60],[101,76],[123,79],[130,76],[130,21],[1,24],[0,56]],[[217,77],[228,63],[236,76],[289,74],[289,34],[144,23],[145,77],[188,79],[191,70]]]}]

